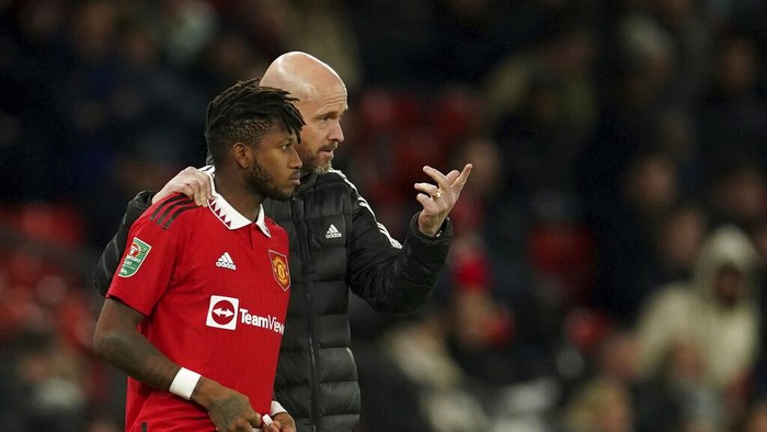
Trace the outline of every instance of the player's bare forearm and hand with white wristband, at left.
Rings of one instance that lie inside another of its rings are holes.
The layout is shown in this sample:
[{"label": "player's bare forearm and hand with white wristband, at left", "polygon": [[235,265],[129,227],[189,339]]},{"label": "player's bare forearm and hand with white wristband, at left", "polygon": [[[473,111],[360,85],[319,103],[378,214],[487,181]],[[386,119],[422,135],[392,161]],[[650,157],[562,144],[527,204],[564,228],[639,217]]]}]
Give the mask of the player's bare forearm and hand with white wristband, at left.
[{"label": "player's bare forearm and hand with white wristband, at left", "polygon": [[248,398],[213,379],[182,368],[138,332],[145,316],[110,297],[96,321],[93,350],[133,378],[203,406],[219,431],[251,431],[261,417]]}]

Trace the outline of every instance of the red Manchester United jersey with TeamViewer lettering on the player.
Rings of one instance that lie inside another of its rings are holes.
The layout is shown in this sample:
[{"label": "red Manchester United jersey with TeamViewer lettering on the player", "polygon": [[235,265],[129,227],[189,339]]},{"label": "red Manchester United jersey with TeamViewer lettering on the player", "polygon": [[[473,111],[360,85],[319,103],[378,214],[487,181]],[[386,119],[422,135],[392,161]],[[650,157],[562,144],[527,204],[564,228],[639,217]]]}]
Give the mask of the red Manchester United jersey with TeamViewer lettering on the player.
[{"label": "red Manchester United jersey with TeamViewer lettering on the player", "polygon": [[[285,230],[263,207],[253,223],[218,194],[208,207],[173,195],[141,215],[128,242],[107,297],[144,314],[139,331],[173,362],[268,413],[290,288]],[[214,425],[203,407],[128,378],[126,431],[144,430]]]}]

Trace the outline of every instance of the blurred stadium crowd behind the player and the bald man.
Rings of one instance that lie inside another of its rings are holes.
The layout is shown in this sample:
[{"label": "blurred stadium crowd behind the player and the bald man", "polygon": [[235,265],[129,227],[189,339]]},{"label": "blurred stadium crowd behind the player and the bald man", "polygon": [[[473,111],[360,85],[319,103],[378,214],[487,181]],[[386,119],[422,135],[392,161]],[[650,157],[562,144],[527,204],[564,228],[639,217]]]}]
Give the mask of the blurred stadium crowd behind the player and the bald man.
[{"label": "blurred stadium crowd behind the player and the bald man", "polygon": [[767,431],[763,0],[0,0],[0,429],[122,429],[95,259],[288,50],[394,237],[474,164],[433,300],[350,305],[359,432]]}]

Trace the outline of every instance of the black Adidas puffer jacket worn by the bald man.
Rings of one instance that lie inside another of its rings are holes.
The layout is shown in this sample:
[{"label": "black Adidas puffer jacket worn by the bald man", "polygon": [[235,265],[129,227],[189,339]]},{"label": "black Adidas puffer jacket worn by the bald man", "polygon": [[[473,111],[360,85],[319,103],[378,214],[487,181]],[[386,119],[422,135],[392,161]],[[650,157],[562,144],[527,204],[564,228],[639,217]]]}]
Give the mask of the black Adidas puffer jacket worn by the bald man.
[{"label": "black Adidas puffer jacket worn by the bald man", "polygon": [[[125,249],[129,225],[149,206],[140,193],[99,262],[94,282],[106,293]],[[367,202],[340,171],[307,175],[287,202],[264,211],[290,238],[290,305],[281,349],[276,399],[299,432],[353,431],[359,387],[350,350],[348,291],[374,309],[408,314],[436,285],[450,246],[449,220],[436,238],[413,217],[402,246],[378,224]]]}]

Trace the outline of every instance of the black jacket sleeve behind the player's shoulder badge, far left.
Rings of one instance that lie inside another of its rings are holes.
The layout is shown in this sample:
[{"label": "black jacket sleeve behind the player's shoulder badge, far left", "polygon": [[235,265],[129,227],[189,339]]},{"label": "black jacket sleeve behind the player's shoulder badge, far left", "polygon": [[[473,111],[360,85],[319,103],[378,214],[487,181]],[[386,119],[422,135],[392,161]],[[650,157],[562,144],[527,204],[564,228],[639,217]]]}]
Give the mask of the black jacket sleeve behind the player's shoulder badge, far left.
[{"label": "black jacket sleeve behind the player's shoulder badge, far left", "polygon": [[117,234],[104,248],[99,262],[96,263],[95,272],[93,273],[93,284],[101,295],[106,295],[112,283],[112,277],[119,265],[119,259],[123,258],[123,251],[128,241],[128,230],[130,226],[138,219],[141,214],[152,204],[154,192],[139,192],[135,198],[128,203],[128,208],[123,216],[123,221],[117,228]]}]

